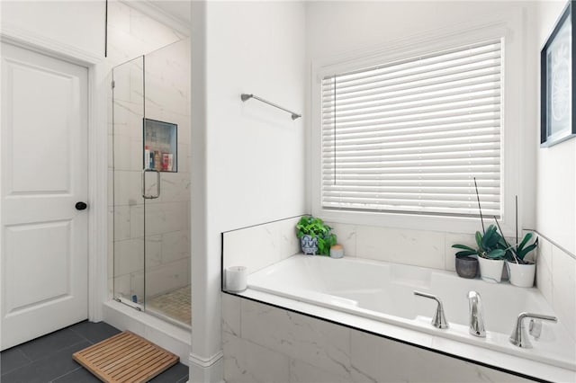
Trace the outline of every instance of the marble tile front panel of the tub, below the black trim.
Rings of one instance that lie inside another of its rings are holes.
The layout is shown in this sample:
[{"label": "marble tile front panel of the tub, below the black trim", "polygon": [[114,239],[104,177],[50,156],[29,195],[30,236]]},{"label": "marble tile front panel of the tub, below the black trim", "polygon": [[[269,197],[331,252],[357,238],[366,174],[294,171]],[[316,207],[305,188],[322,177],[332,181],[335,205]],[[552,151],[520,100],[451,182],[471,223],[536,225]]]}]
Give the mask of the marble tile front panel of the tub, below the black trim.
[{"label": "marble tile front panel of the tub, below the black trim", "polygon": [[229,294],[222,344],[229,383],[527,381]]}]

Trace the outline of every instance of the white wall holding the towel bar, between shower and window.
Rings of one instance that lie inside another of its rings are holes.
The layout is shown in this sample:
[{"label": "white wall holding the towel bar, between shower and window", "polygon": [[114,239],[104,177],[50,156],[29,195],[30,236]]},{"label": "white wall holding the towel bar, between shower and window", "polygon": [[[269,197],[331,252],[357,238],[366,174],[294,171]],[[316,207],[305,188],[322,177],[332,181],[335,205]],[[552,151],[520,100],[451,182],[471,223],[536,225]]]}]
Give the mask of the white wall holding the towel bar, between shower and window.
[{"label": "white wall holding the towel bar, between shower and window", "polygon": [[[193,40],[193,166],[204,160],[205,175],[193,173],[193,187],[201,187],[194,186],[198,179],[205,184],[193,195],[204,194],[205,201],[193,201],[192,243],[193,251],[205,245],[205,254],[193,254],[193,286],[204,288],[193,288],[193,353],[210,365],[221,347],[214,320],[220,317],[220,233],[305,210],[302,119],[293,121],[255,100],[240,101],[240,94],[250,93],[303,110],[305,15],[302,3],[209,2],[205,9],[193,4],[193,28],[202,28],[194,11],[205,12],[205,28],[196,34],[205,36]],[[194,55],[202,49],[205,63],[195,66]],[[194,88],[202,82],[205,126],[194,120],[194,97],[202,98]],[[202,373],[193,370],[191,376],[201,381]]]}]

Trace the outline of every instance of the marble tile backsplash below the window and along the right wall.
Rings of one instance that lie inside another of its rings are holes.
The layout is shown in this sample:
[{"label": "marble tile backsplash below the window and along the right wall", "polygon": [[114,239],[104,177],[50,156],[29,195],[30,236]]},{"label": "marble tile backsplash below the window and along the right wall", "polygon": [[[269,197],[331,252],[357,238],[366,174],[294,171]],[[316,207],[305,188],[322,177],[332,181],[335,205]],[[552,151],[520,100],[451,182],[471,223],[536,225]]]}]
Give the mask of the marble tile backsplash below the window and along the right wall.
[{"label": "marble tile backsplash below the window and along the right wall", "polygon": [[[347,257],[357,256],[377,261],[411,264],[433,269],[455,272],[454,244],[474,246],[473,234],[433,232],[426,230],[397,229],[329,222],[344,245]],[[522,236],[526,234],[522,231]],[[576,339],[576,257],[546,236],[533,231],[539,238],[536,249],[536,288],[545,296],[554,311],[570,325]],[[508,238],[514,243],[513,238]],[[379,251],[385,248],[386,251]],[[407,254],[410,254],[407,255]],[[508,272],[503,269],[503,281],[508,281]]]}]

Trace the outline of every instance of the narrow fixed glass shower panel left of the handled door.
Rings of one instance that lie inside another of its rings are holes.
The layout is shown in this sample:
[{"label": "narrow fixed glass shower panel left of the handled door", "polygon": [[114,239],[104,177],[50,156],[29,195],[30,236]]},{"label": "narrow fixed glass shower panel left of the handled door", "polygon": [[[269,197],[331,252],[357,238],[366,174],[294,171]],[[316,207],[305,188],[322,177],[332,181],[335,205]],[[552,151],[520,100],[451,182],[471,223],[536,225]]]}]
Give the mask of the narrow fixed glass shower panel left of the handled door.
[{"label": "narrow fixed glass shower panel left of the handled door", "polygon": [[144,57],[112,69],[113,298],[143,308],[144,199],[141,193]]}]

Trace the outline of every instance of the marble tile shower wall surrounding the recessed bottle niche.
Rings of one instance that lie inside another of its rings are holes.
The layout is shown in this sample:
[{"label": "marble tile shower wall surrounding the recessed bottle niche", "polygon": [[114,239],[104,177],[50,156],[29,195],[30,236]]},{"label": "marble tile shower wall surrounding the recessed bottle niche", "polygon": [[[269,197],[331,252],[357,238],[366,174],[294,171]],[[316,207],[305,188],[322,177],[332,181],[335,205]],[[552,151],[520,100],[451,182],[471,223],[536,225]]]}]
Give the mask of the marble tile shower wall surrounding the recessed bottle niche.
[{"label": "marble tile shower wall surrounding the recessed bottle niche", "polygon": [[[109,6],[111,65],[147,55],[146,98],[142,61],[136,60],[114,72],[113,126],[112,94],[108,102],[109,291],[112,296],[115,285],[116,293],[141,298],[145,246],[148,296],[190,283],[189,44],[177,31],[126,4],[112,1]],[[140,191],[144,108],[148,119],[178,125],[178,172],[162,174],[160,198],[147,202],[146,243]]]}]

